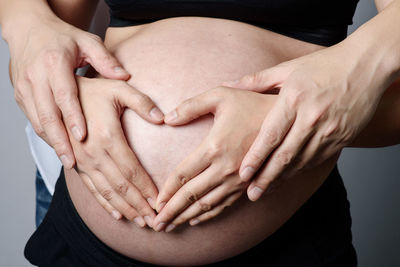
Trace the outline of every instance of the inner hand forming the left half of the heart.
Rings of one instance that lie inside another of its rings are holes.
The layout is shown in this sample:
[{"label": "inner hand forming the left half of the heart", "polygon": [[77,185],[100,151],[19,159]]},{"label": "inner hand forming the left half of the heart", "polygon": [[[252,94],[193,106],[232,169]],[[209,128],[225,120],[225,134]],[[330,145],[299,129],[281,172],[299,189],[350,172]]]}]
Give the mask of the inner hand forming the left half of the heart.
[{"label": "inner hand forming the left half of the heart", "polygon": [[148,96],[124,81],[83,77],[77,81],[88,121],[87,138],[82,142],[71,138],[79,175],[115,219],[123,215],[141,227],[145,221],[151,227],[155,218],[151,206],[158,191],[129,147],[120,118],[124,109],[130,108],[143,119],[159,124],[163,114]]}]

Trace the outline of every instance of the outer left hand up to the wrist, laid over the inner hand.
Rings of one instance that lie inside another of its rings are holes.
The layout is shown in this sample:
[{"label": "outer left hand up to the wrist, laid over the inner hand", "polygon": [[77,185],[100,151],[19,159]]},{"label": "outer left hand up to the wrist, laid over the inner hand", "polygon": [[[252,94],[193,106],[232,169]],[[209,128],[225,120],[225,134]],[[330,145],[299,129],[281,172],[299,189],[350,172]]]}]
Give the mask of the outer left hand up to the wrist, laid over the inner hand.
[{"label": "outer left hand up to the wrist, laid over the inner hand", "polygon": [[75,158],[65,127],[78,141],[86,136],[74,70],[90,63],[106,78],[126,80],[129,74],[96,35],[56,16],[25,24],[7,38],[15,99],[35,132],[55,149],[65,168],[72,168]]}]

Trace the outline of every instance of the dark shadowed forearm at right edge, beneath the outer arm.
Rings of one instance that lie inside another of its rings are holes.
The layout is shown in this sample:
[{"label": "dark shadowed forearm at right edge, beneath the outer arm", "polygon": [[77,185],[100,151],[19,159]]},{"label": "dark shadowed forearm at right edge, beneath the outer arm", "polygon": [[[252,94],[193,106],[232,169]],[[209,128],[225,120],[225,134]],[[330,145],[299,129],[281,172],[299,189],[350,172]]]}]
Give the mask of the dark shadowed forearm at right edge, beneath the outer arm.
[{"label": "dark shadowed forearm at right edge, beneath the outer arm", "polygon": [[374,117],[350,144],[381,147],[400,143],[400,78],[385,91]]}]

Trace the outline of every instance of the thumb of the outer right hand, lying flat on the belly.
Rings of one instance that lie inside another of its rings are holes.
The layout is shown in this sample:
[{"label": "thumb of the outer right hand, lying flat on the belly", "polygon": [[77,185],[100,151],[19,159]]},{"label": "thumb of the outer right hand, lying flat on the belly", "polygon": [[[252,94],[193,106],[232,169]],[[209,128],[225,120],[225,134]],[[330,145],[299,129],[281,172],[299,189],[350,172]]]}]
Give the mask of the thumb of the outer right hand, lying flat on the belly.
[{"label": "thumb of the outer right hand, lying flat on the belly", "polygon": [[240,80],[224,82],[222,85],[254,92],[266,92],[280,87],[286,77],[286,71],[276,66],[247,74]]}]

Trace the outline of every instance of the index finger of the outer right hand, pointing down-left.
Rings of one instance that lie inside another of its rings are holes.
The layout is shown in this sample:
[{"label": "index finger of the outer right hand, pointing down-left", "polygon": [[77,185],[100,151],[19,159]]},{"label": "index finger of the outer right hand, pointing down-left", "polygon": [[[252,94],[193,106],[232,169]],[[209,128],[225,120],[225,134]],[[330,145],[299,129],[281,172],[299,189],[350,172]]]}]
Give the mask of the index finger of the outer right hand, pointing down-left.
[{"label": "index finger of the outer right hand, pointing down-left", "polygon": [[256,139],[246,153],[239,169],[239,175],[249,181],[265,159],[282,142],[296,119],[296,111],[289,109],[281,96],[265,117]]}]

